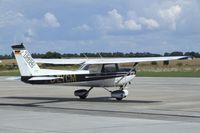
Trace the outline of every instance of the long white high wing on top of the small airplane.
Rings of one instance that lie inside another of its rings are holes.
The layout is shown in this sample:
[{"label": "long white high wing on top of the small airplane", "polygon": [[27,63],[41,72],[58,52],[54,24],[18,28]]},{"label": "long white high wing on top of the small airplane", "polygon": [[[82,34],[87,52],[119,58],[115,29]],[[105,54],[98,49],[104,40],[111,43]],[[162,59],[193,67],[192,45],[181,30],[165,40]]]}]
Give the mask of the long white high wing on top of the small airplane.
[{"label": "long white high wing on top of the small airplane", "polygon": [[169,56],[169,57],[139,57],[139,58],[99,58],[99,59],[35,59],[37,63],[72,65],[72,64],[123,64],[140,63],[152,61],[170,61],[190,59],[189,56]]}]

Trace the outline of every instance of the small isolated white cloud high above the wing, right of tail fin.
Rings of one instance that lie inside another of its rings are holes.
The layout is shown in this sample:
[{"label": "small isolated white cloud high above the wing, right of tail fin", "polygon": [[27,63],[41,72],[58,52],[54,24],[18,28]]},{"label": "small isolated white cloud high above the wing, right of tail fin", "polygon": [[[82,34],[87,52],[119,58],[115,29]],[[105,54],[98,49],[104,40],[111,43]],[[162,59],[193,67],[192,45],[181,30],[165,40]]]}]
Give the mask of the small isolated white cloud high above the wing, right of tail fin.
[{"label": "small isolated white cloud high above the wing, right of tail fin", "polygon": [[49,12],[44,15],[44,22],[50,27],[60,27],[60,23],[58,22],[56,16]]}]

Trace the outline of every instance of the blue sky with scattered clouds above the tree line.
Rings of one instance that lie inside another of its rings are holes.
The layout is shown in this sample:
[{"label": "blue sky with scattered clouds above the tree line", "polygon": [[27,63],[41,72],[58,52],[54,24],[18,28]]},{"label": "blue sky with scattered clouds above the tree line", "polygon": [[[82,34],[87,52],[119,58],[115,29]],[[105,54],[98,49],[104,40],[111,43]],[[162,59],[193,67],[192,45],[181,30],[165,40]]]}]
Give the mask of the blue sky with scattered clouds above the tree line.
[{"label": "blue sky with scattered clouds above the tree line", "polygon": [[0,0],[0,54],[200,51],[198,0]]}]

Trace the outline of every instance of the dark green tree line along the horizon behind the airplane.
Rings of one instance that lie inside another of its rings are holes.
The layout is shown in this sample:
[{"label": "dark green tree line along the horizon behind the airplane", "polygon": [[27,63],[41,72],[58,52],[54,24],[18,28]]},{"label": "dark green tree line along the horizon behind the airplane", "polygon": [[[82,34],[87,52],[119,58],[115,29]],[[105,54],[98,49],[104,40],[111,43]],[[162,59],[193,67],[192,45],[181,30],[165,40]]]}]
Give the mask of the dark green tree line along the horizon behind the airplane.
[{"label": "dark green tree line along the horizon behind the airplane", "polygon": [[[32,57],[33,58],[82,58],[82,57],[162,57],[162,56],[191,56],[195,58],[200,58],[200,53],[199,52],[171,52],[171,53],[164,53],[162,54],[155,54],[155,53],[150,53],[150,52],[137,52],[137,53],[123,53],[123,52],[101,52],[101,53],[80,53],[80,54],[72,54],[72,53],[58,53],[58,52],[46,52],[45,54],[41,53],[33,53]],[[13,53],[8,55],[0,55],[0,59],[13,59],[14,55]]]}]

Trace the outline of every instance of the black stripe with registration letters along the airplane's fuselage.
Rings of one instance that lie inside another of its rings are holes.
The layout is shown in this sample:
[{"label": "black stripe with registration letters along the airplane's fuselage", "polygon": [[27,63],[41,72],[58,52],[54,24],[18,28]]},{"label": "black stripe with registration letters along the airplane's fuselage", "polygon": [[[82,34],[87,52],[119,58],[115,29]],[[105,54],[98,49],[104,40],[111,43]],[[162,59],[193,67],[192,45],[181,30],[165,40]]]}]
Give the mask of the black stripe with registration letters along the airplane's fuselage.
[{"label": "black stripe with registration letters along the airplane's fuselage", "polygon": [[77,75],[42,75],[37,77],[56,77],[53,80],[37,80],[29,81],[30,78],[34,76],[22,76],[21,81],[30,84],[55,84],[55,83],[71,83],[71,82],[84,82],[84,81],[95,81],[95,80],[104,80],[117,77],[123,77],[127,73],[118,72],[118,73],[98,73],[98,74],[77,74]]}]

